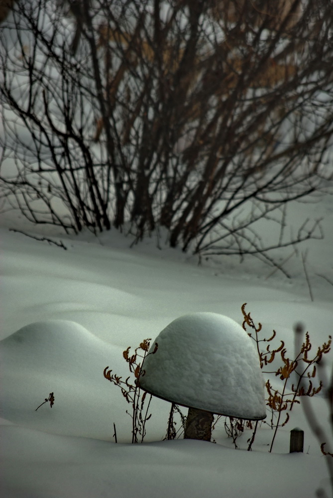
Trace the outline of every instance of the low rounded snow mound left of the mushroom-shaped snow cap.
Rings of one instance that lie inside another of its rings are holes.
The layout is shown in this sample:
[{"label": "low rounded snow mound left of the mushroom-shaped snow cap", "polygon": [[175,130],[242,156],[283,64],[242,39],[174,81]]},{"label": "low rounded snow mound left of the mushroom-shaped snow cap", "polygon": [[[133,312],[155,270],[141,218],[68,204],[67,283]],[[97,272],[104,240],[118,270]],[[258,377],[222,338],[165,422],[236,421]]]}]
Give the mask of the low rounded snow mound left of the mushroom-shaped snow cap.
[{"label": "low rounded snow mound left of the mushroom-shaped snow cap", "polygon": [[[4,418],[58,434],[112,438],[114,401],[123,400],[103,370],[111,363],[117,372],[123,368],[121,350],[78,323],[48,320],[3,339],[0,351]],[[53,407],[35,411],[50,392]]]}]

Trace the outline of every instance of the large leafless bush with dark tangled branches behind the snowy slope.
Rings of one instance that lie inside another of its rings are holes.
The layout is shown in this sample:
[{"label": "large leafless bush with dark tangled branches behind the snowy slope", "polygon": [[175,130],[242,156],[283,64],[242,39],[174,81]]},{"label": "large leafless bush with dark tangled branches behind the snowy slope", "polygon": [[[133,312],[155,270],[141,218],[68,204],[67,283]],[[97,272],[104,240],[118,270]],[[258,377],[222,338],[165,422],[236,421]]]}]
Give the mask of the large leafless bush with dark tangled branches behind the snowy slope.
[{"label": "large leafless bush with dark tangled branches behind the snowy slope", "polygon": [[15,2],[1,25],[7,203],[68,233],[163,228],[200,254],[269,258],[322,237],[315,218],[290,233],[285,207],[332,180],[333,6],[271,4]]}]

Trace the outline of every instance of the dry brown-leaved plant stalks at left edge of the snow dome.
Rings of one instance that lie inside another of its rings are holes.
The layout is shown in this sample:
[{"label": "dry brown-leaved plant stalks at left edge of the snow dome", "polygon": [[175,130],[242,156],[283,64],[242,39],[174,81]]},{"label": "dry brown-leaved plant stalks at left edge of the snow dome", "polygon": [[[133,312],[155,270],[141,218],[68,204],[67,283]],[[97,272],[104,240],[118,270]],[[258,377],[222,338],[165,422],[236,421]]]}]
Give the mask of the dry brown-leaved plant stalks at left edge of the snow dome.
[{"label": "dry brown-leaved plant stalks at left edge of the snow dome", "polygon": [[[157,351],[157,343],[155,343],[155,348],[151,353],[148,353],[150,347],[151,339],[144,339],[140,345],[135,348],[134,354],[130,355],[130,346],[123,352],[123,357],[128,363],[128,368],[130,373],[134,373],[134,383],[130,380],[130,375],[123,380],[121,376],[113,373],[112,370],[108,370],[109,367],[104,369],[104,376],[114,385],[121,389],[121,393],[126,399],[127,403],[132,406],[132,411],[126,410],[126,413],[132,419],[132,443],[138,443],[138,434],[141,436],[140,442],[143,442],[144,436],[146,435],[146,422],[150,419],[151,413],[148,415],[149,405],[151,401],[151,394],[148,394],[139,387],[138,380],[141,375],[144,375],[143,364],[144,360],[148,355],[154,355]],[[141,350],[143,354],[138,353]],[[140,361],[140,358],[142,361]],[[146,403],[146,398],[148,399]]]}]

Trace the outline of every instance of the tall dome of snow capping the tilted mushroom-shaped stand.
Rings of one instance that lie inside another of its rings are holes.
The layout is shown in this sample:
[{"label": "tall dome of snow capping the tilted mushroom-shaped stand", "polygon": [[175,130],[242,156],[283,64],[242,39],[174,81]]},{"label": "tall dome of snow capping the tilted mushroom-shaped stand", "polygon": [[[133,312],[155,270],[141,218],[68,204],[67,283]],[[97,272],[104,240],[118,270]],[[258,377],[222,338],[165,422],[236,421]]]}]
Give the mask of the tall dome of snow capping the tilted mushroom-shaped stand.
[{"label": "tall dome of snow capping the tilted mushroom-shaped stand", "polygon": [[264,382],[253,341],[231,318],[192,313],[155,339],[140,387],[156,396],[213,413],[263,419]]}]

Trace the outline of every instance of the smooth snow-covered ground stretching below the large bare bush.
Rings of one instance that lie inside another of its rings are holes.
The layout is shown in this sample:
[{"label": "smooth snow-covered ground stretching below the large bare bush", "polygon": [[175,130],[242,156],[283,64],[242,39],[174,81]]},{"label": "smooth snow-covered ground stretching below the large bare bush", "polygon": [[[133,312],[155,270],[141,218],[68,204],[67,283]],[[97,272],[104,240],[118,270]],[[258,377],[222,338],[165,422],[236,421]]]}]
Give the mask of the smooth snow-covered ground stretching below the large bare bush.
[{"label": "smooth snow-covered ground stretching below the large bare bush", "polygon": [[[261,424],[247,452],[245,432],[235,450],[223,419],[213,433],[217,444],[162,441],[170,404],[154,398],[143,444],[131,440],[128,405],[103,370],[127,376],[122,351],[154,339],[172,320],[196,311],[222,313],[242,322],[240,306],[263,335],[277,332],[289,352],[292,327],[301,320],[313,349],[327,341],[333,323],[333,196],[314,204],[295,203],[297,224],[324,217],[324,241],[309,241],[275,255],[292,278],[255,258],[203,261],[111,231],[95,239],[47,232],[67,250],[37,242],[8,227],[39,236],[24,220],[2,217],[1,235],[1,497],[4,498],[280,498],[332,496],[325,457],[301,407],[273,431]],[[270,227],[265,228],[271,236]],[[302,264],[305,254],[309,286]],[[332,282],[332,283],[330,283]],[[34,322],[47,324],[28,326]],[[28,327],[26,327],[28,326]],[[17,332],[25,327],[20,332]],[[292,353],[290,353],[292,356]],[[326,367],[332,366],[327,355]],[[175,379],[175,382],[177,379]],[[279,380],[272,377],[278,385]],[[54,392],[55,402],[40,403]],[[323,396],[316,414],[331,435]],[[113,423],[118,443],[114,444]],[[289,434],[305,431],[304,453],[289,454]]]}]

